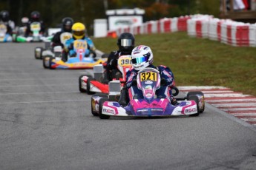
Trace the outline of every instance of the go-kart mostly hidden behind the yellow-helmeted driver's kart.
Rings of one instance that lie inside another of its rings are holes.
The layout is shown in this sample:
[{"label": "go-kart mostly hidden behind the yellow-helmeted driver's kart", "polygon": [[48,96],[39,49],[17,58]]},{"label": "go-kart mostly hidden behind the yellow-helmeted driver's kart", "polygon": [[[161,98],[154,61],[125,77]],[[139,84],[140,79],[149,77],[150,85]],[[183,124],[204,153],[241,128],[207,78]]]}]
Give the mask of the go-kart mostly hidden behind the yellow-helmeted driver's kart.
[{"label": "go-kart mostly hidden behind the yellow-helmeted driver's kart", "polygon": [[[62,44],[65,44],[66,41],[70,38],[72,38],[72,34],[68,33],[68,32],[62,33],[60,35],[60,41]],[[50,57],[50,56],[55,58],[53,48],[51,47],[50,42],[45,42],[45,48],[44,47],[36,47],[35,48],[35,58],[36,59],[42,59],[44,57]]]}]

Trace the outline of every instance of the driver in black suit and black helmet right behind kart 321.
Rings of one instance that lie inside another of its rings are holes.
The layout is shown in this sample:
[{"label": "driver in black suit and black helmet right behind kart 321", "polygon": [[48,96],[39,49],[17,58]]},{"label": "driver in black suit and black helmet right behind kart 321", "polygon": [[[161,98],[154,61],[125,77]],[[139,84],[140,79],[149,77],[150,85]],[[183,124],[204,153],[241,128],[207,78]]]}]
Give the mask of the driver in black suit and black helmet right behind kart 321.
[{"label": "driver in black suit and black helmet right behind kart 321", "polygon": [[108,55],[108,61],[103,64],[105,67],[104,78],[102,83],[108,84],[109,81],[119,74],[117,69],[117,60],[121,55],[131,55],[131,51],[134,49],[135,38],[131,33],[122,33],[117,39],[117,46],[119,50],[112,51]]}]

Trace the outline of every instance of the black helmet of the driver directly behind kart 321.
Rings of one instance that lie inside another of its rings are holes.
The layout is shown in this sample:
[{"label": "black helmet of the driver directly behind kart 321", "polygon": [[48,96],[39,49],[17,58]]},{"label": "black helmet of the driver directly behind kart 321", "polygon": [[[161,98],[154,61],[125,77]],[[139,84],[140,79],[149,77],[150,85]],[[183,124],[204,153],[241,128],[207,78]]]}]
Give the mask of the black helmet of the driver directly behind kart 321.
[{"label": "black helmet of the driver directly behind kart 321", "polygon": [[134,41],[134,35],[132,35],[131,33],[122,33],[121,35],[119,35],[119,38],[117,40],[119,50],[121,52],[131,53],[131,51],[134,49]]}]

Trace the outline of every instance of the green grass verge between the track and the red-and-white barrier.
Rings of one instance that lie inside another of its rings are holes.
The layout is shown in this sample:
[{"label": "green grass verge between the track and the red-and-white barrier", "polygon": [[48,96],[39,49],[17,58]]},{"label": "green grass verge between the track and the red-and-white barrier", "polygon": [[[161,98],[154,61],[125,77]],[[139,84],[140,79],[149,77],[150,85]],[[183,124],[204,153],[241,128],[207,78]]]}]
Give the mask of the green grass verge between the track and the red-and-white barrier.
[{"label": "green grass verge between the track and the red-and-white barrier", "polygon": [[[151,47],[154,65],[174,72],[176,86],[226,86],[256,96],[256,48],[232,47],[187,33],[136,35],[136,45]],[[103,52],[117,50],[116,39],[94,38]]]}]

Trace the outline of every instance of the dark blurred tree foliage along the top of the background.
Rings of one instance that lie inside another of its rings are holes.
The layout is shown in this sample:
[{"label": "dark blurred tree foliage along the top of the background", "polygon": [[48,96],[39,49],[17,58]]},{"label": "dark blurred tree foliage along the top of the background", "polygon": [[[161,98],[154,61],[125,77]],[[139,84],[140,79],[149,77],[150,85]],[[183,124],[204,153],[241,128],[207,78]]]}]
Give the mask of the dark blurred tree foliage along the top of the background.
[{"label": "dark blurred tree foliage along the top of the background", "polygon": [[[108,2],[108,3],[105,3]],[[108,4],[108,5],[106,5]],[[62,18],[70,16],[83,22],[89,35],[95,18],[106,18],[105,10],[139,7],[145,9],[145,21],[164,17],[206,13],[218,16],[219,1],[206,0],[1,0],[0,10],[9,10],[10,18],[21,24],[23,16],[38,10],[47,27],[56,27]]]}]

